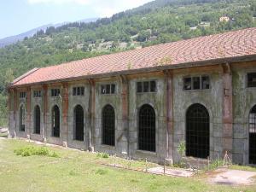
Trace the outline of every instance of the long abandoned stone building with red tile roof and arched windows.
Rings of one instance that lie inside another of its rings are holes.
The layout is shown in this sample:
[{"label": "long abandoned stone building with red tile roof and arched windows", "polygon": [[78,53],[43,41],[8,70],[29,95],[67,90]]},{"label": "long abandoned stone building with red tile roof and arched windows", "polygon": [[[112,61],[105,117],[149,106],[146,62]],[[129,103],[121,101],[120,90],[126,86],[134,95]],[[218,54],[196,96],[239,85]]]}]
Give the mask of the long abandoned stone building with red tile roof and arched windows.
[{"label": "long abandoned stone building with red tile roof and arched windows", "polygon": [[8,90],[11,137],[256,164],[256,28],[35,68]]}]

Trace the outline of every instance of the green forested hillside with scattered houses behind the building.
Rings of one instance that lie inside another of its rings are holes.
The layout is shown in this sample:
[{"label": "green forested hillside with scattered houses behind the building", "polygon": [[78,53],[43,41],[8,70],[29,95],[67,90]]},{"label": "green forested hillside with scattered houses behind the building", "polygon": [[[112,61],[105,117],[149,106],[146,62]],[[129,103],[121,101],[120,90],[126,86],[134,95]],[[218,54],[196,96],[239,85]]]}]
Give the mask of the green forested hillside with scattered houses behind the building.
[{"label": "green forested hillside with scattered houses behind the building", "polygon": [[33,67],[253,27],[255,18],[256,0],[156,0],[96,22],[49,27],[0,49],[0,117],[4,86]]}]

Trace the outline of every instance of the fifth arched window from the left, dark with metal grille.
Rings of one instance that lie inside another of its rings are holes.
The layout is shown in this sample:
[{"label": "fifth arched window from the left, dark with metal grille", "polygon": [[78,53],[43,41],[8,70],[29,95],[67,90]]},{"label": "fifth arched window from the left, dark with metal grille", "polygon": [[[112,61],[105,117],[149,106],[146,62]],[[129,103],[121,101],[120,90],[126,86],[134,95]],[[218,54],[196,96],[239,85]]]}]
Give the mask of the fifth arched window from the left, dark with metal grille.
[{"label": "fifth arched window from the left, dark with metal grille", "polygon": [[105,145],[114,146],[115,137],[115,115],[114,109],[111,105],[106,105],[102,109],[102,143]]}]

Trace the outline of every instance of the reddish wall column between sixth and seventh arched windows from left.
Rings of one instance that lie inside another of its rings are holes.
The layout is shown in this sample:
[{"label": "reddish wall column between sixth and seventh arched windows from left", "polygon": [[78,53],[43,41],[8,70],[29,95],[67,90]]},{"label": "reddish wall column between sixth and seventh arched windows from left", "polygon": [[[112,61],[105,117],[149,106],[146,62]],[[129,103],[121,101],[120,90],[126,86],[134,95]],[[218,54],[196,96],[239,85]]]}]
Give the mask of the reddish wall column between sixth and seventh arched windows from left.
[{"label": "reddish wall column between sixth and seventh arched windows from left", "polygon": [[165,72],[166,76],[166,160],[173,163],[173,81],[172,71]]}]

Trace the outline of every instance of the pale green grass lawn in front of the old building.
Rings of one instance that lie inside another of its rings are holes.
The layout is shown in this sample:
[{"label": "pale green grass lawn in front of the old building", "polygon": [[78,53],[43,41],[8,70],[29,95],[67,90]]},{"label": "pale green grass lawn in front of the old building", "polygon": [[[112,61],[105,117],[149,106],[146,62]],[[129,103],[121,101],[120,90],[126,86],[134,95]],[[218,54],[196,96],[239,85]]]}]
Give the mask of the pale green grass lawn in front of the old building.
[{"label": "pale green grass lawn in front of the old building", "polygon": [[[103,166],[100,163],[128,162],[68,148],[49,148],[60,158],[22,157],[14,153],[15,149],[29,145],[35,144],[0,138],[0,191],[256,191],[256,184],[212,185],[205,175],[166,177]],[[143,167],[144,162],[133,161],[131,166]]]}]

